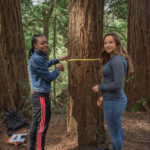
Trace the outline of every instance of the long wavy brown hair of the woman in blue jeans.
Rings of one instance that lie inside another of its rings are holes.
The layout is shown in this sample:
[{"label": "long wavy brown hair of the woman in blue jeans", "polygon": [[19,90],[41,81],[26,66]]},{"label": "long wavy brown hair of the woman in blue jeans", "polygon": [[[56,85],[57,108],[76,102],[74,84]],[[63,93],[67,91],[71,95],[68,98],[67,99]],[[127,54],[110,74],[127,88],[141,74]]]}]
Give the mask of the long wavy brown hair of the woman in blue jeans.
[{"label": "long wavy brown hair of the woman in blue jeans", "polygon": [[[128,63],[128,75],[129,74],[132,74],[134,72],[134,67],[133,67],[133,64],[132,64],[132,60],[130,58],[130,56],[128,55],[128,52],[124,50],[123,48],[123,45],[118,37],[118,35],[116,33],[113,33],[113,32],[110,32],[108,34],[106,34],[103,38],[103,45],[104,45],[104,40],[107,36],[112,36],[115,43],[116,43],[116,50],[113,51],[113,55],[114,54],[118,54],[118,55],[121,55],[121,56],[124,56],[124,58],[127,60],[127,63]],[[105,49],[104,49],[104,46],[103,46],[103,49],[102,49],[102,52],[100,54],[100,60],[101,60],[101,64],[104,65],[106,64],[110,59],[110,54],[108,54]]]}]

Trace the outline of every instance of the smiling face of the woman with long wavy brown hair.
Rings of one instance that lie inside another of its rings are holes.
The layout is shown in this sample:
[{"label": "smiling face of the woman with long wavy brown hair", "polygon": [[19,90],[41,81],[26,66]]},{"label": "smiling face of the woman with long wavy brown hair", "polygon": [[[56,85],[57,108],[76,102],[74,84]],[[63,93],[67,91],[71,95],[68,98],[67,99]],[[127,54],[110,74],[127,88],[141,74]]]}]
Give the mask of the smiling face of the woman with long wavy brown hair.
[{"label": "smiling face of the woman with long wavy brown hair", "polygon": [[104,50],[111,54],[116,49],[116,42],[111,35],[108,35],[104,39]]}]

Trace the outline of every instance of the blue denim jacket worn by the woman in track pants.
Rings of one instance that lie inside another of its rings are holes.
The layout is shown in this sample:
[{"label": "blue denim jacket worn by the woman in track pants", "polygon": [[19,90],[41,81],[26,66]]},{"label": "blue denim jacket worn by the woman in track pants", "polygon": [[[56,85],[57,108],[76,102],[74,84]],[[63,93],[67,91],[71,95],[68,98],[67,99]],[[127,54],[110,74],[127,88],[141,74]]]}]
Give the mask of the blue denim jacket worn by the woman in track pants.
[{"label": "blue denim jacket worn by the woman in track pants", "polygon": [[36,49],[34,50],[28,66],[32,91],[50,93],[51,81],[55,80],[60,72],[57,68],[50,72],[49,67],[58,62],[58,59],[46,61],[46,54]]}]

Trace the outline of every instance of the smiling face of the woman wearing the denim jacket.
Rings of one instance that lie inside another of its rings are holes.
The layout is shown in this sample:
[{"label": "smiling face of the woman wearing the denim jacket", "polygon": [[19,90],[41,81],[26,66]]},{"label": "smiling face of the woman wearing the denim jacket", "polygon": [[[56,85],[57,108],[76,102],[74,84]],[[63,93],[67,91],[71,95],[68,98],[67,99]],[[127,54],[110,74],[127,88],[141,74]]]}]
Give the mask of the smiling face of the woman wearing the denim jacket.
[{"label": "smiling face of the woman wearing the denim jacket", "polygon": [[37,38],[37,42],[34,44],[34,48],[43,52],[48,52],[48,41],[45,36],[40,36]]}]

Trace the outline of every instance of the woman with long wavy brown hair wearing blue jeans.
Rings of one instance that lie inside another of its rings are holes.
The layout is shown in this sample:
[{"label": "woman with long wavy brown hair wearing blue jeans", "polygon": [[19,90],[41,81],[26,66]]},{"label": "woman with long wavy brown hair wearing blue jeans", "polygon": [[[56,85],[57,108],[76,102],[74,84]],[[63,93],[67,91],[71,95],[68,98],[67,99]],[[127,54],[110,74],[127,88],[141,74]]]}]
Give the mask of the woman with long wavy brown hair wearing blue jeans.
[{"label": "woman with long wavy brown hair wearing blue jeans", "polygon": [[104,119],[112,138],[112,150],[122,150],[122,115],[127,105],[123,82],[126,72],[133,73],[133,66],[115,33],[105,35],[100,59],[103,66],[103,83],[95,85],[92,90],[102,92],[97,105],[100,106],[104,100]]}]

